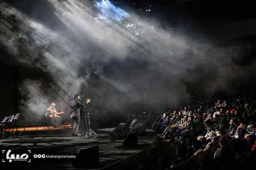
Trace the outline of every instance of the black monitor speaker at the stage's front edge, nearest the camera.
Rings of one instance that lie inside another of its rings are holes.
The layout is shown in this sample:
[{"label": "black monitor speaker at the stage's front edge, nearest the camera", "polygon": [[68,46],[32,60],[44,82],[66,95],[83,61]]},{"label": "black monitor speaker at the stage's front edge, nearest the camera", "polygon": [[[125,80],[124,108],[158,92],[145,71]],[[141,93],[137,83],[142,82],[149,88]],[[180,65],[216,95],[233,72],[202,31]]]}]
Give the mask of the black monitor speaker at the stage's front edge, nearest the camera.
[{"label": "black monitor speaker at the stage's front edge, nearest the camera", "polygon": [[73,167],[75,168],[98,168],[100,162],[98,146],[93,146],[80,150],[75,160]]}]

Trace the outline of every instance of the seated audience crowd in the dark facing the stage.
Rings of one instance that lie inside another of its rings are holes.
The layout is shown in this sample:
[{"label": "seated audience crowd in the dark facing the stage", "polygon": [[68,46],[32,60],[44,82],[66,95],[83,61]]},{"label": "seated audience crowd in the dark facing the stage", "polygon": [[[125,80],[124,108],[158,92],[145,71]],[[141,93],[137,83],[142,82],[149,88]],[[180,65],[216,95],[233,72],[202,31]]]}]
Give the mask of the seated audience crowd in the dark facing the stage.
[{"label": "seated audience crowd in the dark facing the stage", "polygon": [[[236,92],[164,112],[153,124],[158,141],[175,148],[159,169],[241,169],[256,164],[255,93]],[[167,114],[168,113],[168,114]],[[156,124],[159,128],[155,128]],[[164,163],[164,164],[163,164]]]}]

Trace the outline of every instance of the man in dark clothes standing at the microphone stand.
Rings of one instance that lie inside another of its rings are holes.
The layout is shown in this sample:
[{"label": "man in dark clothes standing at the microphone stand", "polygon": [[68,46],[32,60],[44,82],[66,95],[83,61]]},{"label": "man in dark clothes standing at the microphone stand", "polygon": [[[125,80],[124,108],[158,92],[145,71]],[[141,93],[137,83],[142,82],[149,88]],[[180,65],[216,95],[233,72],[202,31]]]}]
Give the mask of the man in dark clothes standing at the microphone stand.
[{"label": "man in dark clothes standing at the microphone stand", "polygon": [[73,136],[80,136],[78,133],[80,124],[80,108],[86,106],[90,102],[90,99],[82,101],[79,94],[74,95],[74,99],[69,103],[70,117],[74,120]]}]

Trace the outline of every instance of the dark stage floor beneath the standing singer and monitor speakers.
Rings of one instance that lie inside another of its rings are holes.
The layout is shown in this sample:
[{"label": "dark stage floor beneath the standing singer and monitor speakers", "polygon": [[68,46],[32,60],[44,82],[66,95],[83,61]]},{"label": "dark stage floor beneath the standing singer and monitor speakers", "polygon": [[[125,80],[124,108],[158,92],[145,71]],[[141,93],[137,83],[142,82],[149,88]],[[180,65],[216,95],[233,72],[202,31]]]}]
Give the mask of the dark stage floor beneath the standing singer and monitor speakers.
[{"label": "dark stage floor beneath the standing singer and monitor speakers", "polygon": [[[36,165],[36,169],[76,169],[72,166],[74,158],[35,159],[34,155],[69,155],[71,157],[77,155],[81,149],[98,146],[100,165],[97,169],[101,169],[138,154],[144,148],[150,146],[155,139],[154,132],[148,129],[143,136],[138,137],[138,146],[125,148],[122,146],[123,139],[113,142],[109,140],[108,133],[113,128],[97,129],[97,138],[72,137],[70,135],[71,128],[65,128],[62,131],[56,130],[30,131],[18,138],[1,139],[0,147],[2,150],[11,150],[14,153],[20,150],[31,151],[31,154],[29,154],[31,162],[19,164],[18,168],[21,169],[25,167],[33,168],[34,165]],[[84,163],[86,163],[86,160],[84,160]],[[12,169],[13,164],[8,164],[10,165],[8,167]]]}]

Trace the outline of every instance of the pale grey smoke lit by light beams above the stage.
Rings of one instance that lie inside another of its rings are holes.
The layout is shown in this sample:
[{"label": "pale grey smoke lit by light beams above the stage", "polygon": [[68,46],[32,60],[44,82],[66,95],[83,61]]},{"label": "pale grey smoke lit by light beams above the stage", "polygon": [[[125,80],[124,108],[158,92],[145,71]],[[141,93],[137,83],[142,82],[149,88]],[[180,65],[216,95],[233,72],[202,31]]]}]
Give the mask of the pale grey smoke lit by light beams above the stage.
[{"label": "pale grey smoke lit by light beams above the stage", "polygon": [[[49,84],[61,89],[61,94],[80,92],[90,97],[99,114],[131,112],[136,104],[177,106],[190,100],[187,83],[208,92],[228,88],[230,74],[242,74],[232,62],[240,53],[215,46],[208,37],[192,36],[193,32],[182,31],[182,25],[181,31],[174,31],[155,18],[126,11],[107,0],[45,3],[50,6],[45,11],[47,19],[37,17],[44,14],[33,14],[37,6],[28,15],[2,5],[6,15],[19,20],[24,39],[22,43],[9,40],[12,43],[6,46],[22,46],[31,56],[19,58],[20,63],[48,73],[54,82]],[[52,100],[38,80],[24,80],[20,91],[28,97],[22,104],[36,113],[44,113]]]}]

